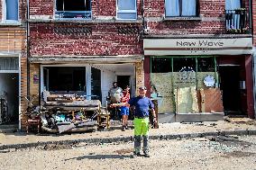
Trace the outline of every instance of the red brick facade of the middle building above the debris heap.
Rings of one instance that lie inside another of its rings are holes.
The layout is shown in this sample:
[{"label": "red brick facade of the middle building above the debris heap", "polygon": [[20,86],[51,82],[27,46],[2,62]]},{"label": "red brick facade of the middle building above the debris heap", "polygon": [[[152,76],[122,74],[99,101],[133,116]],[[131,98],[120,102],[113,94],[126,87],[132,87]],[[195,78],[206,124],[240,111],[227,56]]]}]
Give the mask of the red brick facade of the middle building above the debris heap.
[{"label": "red brick facade of the middle building above the debris heap", "polygon": [[144,80],[142,1],[129,4],[130,11],[115,0],[76,3],[29,3],[29,94],[83,91],[105,106],[109,88],[118,81],[130,85],[134,95]]}]

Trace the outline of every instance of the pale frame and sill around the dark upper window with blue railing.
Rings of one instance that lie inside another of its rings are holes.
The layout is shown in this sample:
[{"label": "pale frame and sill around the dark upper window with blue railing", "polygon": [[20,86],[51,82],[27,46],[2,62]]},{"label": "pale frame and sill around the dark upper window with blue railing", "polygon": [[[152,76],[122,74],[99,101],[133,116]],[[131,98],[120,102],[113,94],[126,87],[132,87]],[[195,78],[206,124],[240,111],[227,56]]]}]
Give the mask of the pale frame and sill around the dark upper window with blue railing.
[{"label": "pale frame and sill around the dark upper window with blue railing", "polygon": [[[87,3],[87,1],[89,1],[89,4],[90,4],[90,11],[57,11],[57,1],[58,0],[55,0],[55,3],[54,3],[54,19],[55,20],[92,20],[92,0],[84,0],[85,1],[85,4]],[[58,14],[58,12],[60,14]],[[61,13],[62,12],[62,13]],[[74,18],[65,18],[65,17],[61,17],[61,14],[65,13],[65,12],[68,12],[68,13],[83,13],[83,12],[87,12],[89,14],[89,17],[74,17]],[[60,15],[58,17],[58,15]]]}]

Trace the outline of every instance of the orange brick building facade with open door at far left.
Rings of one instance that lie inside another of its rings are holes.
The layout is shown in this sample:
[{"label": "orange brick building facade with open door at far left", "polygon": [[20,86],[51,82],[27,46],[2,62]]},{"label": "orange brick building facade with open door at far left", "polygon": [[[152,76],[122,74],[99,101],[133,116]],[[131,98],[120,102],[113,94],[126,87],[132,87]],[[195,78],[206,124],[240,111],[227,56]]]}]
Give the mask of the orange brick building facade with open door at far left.
[{"label": "orange brick building facade with open door at far left", "polygon": [[26,94],[25,8],[22,0],[0,1],[0,124],[19,121],[19,96]]}]

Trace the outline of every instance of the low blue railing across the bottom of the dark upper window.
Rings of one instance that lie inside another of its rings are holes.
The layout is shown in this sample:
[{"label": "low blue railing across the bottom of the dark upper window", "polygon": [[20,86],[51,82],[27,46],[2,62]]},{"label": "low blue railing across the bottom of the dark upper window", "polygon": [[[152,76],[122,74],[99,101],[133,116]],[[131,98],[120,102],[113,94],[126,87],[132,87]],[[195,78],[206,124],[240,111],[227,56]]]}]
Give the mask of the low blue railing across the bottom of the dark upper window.
[{"label": "low blue railing across the bottom of the dark upper window", "polygon": [[90,20],[92,11],[56,11],[55,19]]}]

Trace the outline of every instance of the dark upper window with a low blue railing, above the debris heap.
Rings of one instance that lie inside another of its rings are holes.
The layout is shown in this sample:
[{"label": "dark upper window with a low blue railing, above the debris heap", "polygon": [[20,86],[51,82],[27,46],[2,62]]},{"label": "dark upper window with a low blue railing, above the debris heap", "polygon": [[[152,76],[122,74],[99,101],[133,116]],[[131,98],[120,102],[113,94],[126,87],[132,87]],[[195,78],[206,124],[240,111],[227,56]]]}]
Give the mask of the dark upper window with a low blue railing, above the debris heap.
[{"label": "dark upper window with a low blue railing, above the debris heap", "polygon": [[55,18],[91,19],[91,0],[56,0]]}]

